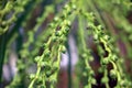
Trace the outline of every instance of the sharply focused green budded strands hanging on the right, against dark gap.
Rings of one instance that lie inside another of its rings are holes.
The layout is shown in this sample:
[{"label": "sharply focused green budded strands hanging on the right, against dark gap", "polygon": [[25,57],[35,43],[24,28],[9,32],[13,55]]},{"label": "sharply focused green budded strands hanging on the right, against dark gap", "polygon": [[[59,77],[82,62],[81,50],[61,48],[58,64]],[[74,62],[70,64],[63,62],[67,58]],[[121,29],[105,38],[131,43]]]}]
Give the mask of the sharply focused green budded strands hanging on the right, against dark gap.
[{"label": "sharply focused green budded strands hanging on the right, against dark gap", "polygon": [[[105,33],[105,29],[101,25],[95,25],[95,18],[92,13],[82,13],[85,18],[87,18],[88,21],[88,28],[91,30],[95,42],[100,45],[102,44],[103,47],[99,48],[100,53],[100,70],[103,73],[103,77],[101,79],[101,82],[106,85],[107,88],[109,88],[109,77],[108,75],[111,76],[111,78],[116,79],[117,78],[117,88],[120,87],[131,87],[131,82],[124,78],[123,69],[121,68],[122,65],[122,58],[117,56],[114,46],[112,45],[113,38],[110,37],[107,33]],[[105,51],[105,52],[101,52]],[[107,55],[105,56],[105,53]],[[112,65],[112,69],[108,72],[108,64]],[[128,82],[128,84],[127,84]]]}]

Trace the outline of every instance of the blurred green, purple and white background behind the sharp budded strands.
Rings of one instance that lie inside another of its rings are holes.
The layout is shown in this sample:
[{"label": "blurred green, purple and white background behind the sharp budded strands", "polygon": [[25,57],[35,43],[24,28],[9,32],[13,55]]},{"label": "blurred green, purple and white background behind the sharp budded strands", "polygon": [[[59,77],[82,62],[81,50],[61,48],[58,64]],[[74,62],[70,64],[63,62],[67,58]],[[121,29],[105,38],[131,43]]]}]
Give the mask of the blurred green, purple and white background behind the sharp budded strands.
[{"label": "blurred green, purple and white background behind the sharp budded strands", "polygon": [[[48,29],[56,15],[62,14],[63,7],[74,0],[1,0],[0,1],[0,88],[28,88],[30,74],[37,70],[34,58],[43,54],[43,43],[53,33]],[[103,31],[114,41],[113,53],[122,62],[124,76],[132,81],[132,1],[131,0],[77,0],[82,10],[92,12],[95,25],[101,24]],[[79,6],[77,6],[79,8]],[[81,9],[81,8],[80,8]],[[55,88],[84,88],[87,84],[85,64],[81,57],[81,41],[78,40],[79,20],[76,15],[67,35],[66,52],[62,53],[61,69]],[[81,21],[85,25],[85,20]],[[57,28],[58,29],[58,28]],[[88,30],[90,30],[88,28]],[[90,33],[91,31],[89,31]],[[85,35],[85,33],[84,33]],[[86,36],[90,50],[96,84],[92,88],[106,88],[101,84],[100,52],[94,35]],[[103,57],[108,52],[103,52]],[[108,64],[108,72],[112,69]],[[117,79],[109,75],[109,86],[113,88]],[[131,85],[132,86],[132,85]],[[36,86],[37,88],[37,86]],[[48,88],[48,87],[47,87]],[[87,87],[86,87],[87,88]],[[128,88],[128,87],[124,87]]]}]

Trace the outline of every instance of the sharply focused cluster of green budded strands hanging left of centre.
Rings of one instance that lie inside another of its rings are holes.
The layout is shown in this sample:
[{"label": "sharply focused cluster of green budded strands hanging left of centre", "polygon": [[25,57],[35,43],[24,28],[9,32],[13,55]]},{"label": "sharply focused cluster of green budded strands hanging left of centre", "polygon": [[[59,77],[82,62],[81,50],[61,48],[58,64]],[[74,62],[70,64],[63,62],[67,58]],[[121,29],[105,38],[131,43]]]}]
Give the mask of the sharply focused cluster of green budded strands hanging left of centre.
[{"label": "sharply focused cluster of green budded strands hanging left of centre", "polygon": [[55,16],[54,21],[48,25],[53,33],[47,42],[43,44],[43,54],[35,57],[37,70],[35,75],[31,75],[32,81],[29,88],[32,88],[35,82],[42,82],[41,87],[46,87],[46,84],[51,84],[50,87],[54,88],[57,81],[61,55],[66,51],[65,42],[70,29],[69,19],[75,9],[76,7],[72,2],[67,3],[63,9],[62,15]]}]

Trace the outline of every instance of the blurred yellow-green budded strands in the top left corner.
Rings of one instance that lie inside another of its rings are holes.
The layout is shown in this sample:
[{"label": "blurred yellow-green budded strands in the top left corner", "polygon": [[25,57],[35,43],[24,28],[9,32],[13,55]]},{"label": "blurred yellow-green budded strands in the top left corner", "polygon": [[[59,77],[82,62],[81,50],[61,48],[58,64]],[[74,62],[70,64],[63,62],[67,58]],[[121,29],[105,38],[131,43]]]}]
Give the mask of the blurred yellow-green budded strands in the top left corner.
[{"label": "blurred yellow-green budded strands in the top left corner", "polygon": [[11,24],[16,21],[20,13],[24,12],[24,7],[30,0],[10,0],[2,7],[3,2],[0,8],[0,35],[10,29]]}]

